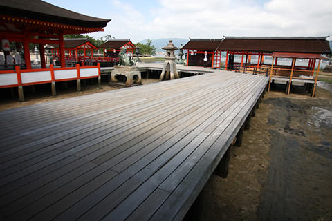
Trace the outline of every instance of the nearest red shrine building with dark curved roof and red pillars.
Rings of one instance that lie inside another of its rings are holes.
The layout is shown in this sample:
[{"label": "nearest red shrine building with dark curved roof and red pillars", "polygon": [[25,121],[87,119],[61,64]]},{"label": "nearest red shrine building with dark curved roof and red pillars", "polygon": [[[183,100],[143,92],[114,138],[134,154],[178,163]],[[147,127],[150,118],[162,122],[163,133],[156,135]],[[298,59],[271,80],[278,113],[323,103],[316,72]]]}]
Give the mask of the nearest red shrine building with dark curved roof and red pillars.
[{"label": "nearest red shrine building with dark curved roof and red pillars", "polygon": [[29,43],[39,44],[42,68],[45,68],[44,44],[57,45],[59,60],[65,66],[64,35],[103,31],[110,19],[100,19],[66,10],[40,0],[10,0],[0,3],[0,39],[18,43],[24,50],[30,69]]}]

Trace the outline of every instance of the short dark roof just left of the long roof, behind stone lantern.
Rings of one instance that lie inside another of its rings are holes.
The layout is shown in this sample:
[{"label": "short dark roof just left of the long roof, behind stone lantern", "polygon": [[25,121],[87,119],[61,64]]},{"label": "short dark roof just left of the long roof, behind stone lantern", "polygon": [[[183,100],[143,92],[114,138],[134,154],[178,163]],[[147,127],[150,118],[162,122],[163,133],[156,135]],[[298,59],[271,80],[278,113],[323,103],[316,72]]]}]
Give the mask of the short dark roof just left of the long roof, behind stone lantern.
[{"label": "short dark roof just left of the long roof, behind stone lantern", "polygon": [[222,39],[190,39],[183,49],[216,50],[221,42]]}]

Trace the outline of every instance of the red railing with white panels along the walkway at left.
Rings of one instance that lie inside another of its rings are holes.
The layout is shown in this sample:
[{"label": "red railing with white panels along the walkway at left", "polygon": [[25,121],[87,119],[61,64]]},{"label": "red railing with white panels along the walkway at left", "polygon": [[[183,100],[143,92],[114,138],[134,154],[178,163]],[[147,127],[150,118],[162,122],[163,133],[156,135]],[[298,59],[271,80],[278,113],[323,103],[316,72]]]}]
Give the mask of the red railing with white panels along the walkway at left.
[{"label": "red railing with white panels along the walkway at left", "polygon": [[24,101],[23,86],[35,84],[52,84],[52,95],[55,96],[55,82],[77,80],[77,90],[81,90],[81,79],[98,78],[100,84],[100,63],[96,66],[80,66],[76,64],[71,68],[21,69],[15,66],[15,70],[0,70],[0,88],[18,87],[19,101]]}]

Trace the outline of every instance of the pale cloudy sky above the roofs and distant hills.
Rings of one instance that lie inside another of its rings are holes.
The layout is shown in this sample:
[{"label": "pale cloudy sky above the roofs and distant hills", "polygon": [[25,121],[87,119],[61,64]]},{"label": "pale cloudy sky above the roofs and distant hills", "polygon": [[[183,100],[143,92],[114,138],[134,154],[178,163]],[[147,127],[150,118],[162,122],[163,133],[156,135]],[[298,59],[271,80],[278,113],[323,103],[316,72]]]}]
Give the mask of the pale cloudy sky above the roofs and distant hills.
[{"label": "pale cloudy sky above the roofs and distant hills", "polygon": [[105,31],[93,37],[109,34],[134,43],[175,37],[332,35],[332,0],[46,1],[111,19]]}]

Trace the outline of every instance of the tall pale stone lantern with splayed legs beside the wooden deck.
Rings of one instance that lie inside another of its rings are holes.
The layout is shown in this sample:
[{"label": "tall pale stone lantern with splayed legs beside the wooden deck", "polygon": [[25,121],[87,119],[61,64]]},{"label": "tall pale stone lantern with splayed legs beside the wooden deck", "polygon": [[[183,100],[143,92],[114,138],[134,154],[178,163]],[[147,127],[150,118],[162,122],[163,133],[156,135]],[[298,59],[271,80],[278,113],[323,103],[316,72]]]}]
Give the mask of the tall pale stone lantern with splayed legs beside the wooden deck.
[{"label": "tall pale stone lantern with splayed legs beside the wooden deck", "polygon": [[172,43],[172,40],[169,40],[169,43],[167,46],[162,48],[166,50],[166,56],[165,56],[165,64],[163,71],[161,72],[159,81],[168,80],[168,79],[176,79],[178,77],[178,70],[176,69],[176,57],[174,54],[175,50],[178,50]]}]

